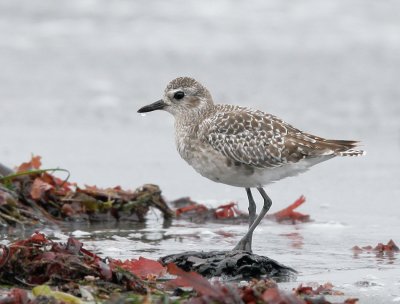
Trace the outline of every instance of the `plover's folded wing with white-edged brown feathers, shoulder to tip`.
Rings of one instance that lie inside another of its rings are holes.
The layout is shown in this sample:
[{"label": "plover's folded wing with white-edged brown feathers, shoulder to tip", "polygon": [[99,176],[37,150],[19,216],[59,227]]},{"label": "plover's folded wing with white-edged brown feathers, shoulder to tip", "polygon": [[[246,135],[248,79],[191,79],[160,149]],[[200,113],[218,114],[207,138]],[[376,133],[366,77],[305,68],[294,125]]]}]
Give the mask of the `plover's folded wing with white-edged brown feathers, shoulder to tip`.
[{"label": "plover's folded wing with white-edged brown feathers, shoulder to tip", "polygon": [[278,167],[304,158],[339,155],[354,141],[330,141],[304,133],[261,111],[220,106],[200,125],[202,140],[234,162],[258,168]]}]

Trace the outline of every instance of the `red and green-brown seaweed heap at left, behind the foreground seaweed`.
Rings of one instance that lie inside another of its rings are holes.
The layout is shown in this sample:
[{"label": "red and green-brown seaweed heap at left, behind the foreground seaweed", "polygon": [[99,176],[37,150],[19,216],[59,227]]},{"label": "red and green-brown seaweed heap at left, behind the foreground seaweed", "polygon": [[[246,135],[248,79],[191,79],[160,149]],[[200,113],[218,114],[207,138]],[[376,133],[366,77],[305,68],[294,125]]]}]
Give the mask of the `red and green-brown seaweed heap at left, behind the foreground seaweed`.
[{"label": "red and green-brown seaweed heap at left, behind the foreground seaweed", "polygon": [[[165,219],[174,216],[156,185],[147,184],[135,191],[121,187],[101,189],[79,187],[54,176],[64,169],[40,169],[40,156],[20,165],[16,171],[0,175],[0,225],[57,224],[59,221],[139,221],[144,222],[150,208],[161,211]],[[68,173],[69,174],[69,173]]]}]

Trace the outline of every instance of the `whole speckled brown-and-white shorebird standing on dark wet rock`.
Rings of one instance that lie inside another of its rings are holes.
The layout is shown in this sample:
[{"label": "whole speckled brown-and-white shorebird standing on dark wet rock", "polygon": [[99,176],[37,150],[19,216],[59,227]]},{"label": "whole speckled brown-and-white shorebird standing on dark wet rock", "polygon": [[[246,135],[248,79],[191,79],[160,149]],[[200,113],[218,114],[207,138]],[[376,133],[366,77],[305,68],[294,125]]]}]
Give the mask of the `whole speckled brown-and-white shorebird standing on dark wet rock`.
[{"label": "whole speckled brown-and-white shorebird standing on dark wet rock", "polygon": [[[262,111],[214,104],[210,92],[189,77],[172,80],[161,100],[138,112],[154,110],[175,117],[176,147],[197,172],[246,189],[249,230],[234,250],[252,250],[253,231],[272,204],[263,186],[335,156],[364,154],[355,149],[357,141],[324,139]],[[257,188],[264,199],[258,216],[251,188]]]}]

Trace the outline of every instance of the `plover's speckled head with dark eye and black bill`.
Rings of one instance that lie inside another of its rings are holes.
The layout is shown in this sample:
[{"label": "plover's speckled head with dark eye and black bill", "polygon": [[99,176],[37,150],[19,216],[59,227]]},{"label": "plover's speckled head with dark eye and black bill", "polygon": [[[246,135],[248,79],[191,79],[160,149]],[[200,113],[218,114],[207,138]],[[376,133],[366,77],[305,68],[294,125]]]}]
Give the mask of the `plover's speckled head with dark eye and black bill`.
[{"label": "plover's speckled head with dark eye and black bill", "polygon": [[162,99],[140,108],[138,112],[165,110],[177,117],[202,113],[212,106],[211,94],[204,86],[193,78],[179,77],[167,85]]}]

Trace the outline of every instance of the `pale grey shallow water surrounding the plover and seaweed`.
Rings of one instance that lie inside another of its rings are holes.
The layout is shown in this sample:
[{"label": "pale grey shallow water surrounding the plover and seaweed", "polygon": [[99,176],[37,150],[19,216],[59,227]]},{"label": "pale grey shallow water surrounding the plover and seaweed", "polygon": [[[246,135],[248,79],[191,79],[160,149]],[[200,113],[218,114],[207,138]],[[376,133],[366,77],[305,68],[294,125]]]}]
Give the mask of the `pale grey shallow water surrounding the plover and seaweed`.
[{"label": "pale grey shallow water surrounding the plover and seaweed", "polygon": [[[80,184],[151,182],[167,199],[235,200],[245,210],[243,189],[208,181],[179,158],[172,117],[136,114],[172,78],[194,76],[218,102],[363,141],[364,158],[334,159],[267,187],[272,211],[304,194],[300,211],[314,222],[264,221],[254,251],[299,271],[288,289],[331,281],[362,303],[400,302],[399,255],[351,251],[400,243],[399,9],[373,0],[2,1],[0,161],[17,165],[35,153]],[[65,239],[71,231],[105,256],[157,258],[231,248],[246,227],[168,226],[150,214],[143,225],[46,232]],[[9,231],[2,242],[20,236]]]}]

